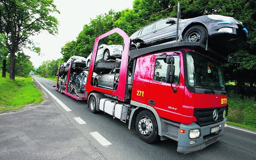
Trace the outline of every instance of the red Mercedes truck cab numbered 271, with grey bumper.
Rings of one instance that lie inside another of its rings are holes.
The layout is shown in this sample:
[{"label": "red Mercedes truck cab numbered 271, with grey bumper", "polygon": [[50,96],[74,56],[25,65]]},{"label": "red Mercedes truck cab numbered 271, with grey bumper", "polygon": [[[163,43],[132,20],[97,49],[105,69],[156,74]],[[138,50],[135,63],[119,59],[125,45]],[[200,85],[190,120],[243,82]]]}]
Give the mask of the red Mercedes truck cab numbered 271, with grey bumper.
[{"label": "red Mercedes truck cab numbered 271, with grey bumper", "polygon": [[[162,58],[168,56],[174,57],[172,83],[166,81],[171,64]],[[177,140],[179,152],[200,150],[220,139],[227,120],[220,62],[192,49],[175,49],[142,55],[135,68],[130,103],[156,112],[161,139]],[[146,129],[139,129],[142,140]]]}]

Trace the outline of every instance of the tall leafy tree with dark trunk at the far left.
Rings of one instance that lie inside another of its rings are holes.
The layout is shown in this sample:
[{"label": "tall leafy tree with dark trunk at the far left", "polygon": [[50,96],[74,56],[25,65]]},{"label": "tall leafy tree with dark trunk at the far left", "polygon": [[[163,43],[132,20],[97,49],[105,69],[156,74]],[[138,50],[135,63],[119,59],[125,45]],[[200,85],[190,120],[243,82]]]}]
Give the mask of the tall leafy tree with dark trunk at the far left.
[{"label": "tall leafy tree with dark trunk at the far left", "polygon": [[[51,13],[58,12],[53,0],[0,0],[0,33],[4,33],[10,53],[10,79],[15,80],[15,53],[28,38],[41,31],[54,35],[58,21]],[[38,51],[38,50],[37,50]]]}]

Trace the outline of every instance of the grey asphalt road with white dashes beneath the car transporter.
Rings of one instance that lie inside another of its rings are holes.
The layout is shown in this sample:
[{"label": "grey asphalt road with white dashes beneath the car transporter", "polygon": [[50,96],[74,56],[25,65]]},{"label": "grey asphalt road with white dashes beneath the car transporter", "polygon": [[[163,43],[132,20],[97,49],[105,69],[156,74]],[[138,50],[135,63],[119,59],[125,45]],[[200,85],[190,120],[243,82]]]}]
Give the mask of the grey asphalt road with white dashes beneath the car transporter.
[{"label": "grey asphalt road with white dashes beneath the car transporter", "polygon": [[0,114],[0,159],[256,159],[255,133],[228,127],[219,142],[182,154],[177,142],[147,144],[127,123],[103,112],[93,114],[87,101],[58,93],[54,81],[36,79],[52,95],[44,91],[43,103]]}]

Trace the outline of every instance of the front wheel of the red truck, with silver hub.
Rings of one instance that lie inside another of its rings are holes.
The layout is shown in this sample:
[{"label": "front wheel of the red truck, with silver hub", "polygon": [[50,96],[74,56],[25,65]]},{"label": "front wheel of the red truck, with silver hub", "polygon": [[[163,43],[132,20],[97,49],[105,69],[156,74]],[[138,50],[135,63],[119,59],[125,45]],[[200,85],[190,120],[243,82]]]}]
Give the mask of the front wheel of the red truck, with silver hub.
[{"label": "front wheel of the red truck, with silver hub", "polygon": [[146,143],[156,142],[159,139],[156,118],[151,111],[141,111],[136,117],[136,132]]}]

